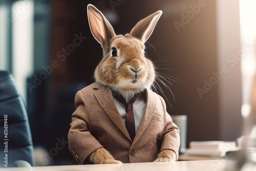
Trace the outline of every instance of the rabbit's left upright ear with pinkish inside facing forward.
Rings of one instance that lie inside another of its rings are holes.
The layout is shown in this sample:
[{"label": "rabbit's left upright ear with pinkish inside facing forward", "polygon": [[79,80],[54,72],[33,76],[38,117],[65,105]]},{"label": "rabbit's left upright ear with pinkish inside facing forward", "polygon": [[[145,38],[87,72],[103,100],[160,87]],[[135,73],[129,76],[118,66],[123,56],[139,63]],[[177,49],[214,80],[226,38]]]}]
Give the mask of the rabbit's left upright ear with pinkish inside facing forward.
[{"label": "rabbit's left upright ear with pinkish inside facing forward", "polygon": [[88,20],[94,38],[104,47],[109,47],[110,39],[115,32],[108,19],[93,5],[87,6]]}]

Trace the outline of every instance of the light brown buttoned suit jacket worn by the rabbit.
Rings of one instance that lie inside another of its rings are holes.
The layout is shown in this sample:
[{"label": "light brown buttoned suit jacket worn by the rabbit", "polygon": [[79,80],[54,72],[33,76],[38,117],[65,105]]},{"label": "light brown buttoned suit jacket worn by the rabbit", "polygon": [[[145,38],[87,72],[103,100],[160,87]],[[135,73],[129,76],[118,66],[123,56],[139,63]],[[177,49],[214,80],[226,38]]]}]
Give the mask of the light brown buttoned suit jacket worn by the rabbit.
[{"label": "light brown buttoned suit jacket worn by the rabbit", "polygon": [[162,97],[152,90],[146,90],[146,110],[134,141],[110,88],[93,83],[77,92],[75,105],[68,139],[79,164],[87,163],[88,156],[100,147],[123,163],[152,162],[163,149],[172,149],[178,158],[179,129],[166,112]]}]

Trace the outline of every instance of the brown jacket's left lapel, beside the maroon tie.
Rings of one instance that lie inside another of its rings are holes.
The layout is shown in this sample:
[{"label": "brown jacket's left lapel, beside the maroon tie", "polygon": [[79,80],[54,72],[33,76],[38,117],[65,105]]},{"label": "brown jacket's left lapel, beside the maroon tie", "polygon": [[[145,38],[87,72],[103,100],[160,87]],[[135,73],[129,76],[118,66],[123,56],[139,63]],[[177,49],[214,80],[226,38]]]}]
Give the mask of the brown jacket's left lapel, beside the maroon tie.
[{"label": "brown jacket's left lapel, beside the maroon tie", "polygon": [[96,90],[94,96],[98,100],[102,109],[107,115],[109,115],[111,120],[117,125],[122,133],[132,142],[132,139],[126,130],[123,120],[116,108],[111,89],[108,87],[100,86],[99,83],[95,83],[95,87],[93,89]]}]

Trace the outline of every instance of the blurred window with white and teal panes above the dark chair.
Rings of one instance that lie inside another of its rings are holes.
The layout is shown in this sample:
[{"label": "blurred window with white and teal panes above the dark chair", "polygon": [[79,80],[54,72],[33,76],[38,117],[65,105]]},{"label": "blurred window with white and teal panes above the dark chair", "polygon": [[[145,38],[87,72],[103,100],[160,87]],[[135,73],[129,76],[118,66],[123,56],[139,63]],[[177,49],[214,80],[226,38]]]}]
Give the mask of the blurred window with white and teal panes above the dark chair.
[{"label": "blurred window with white and teal panes above the dark chair", "polygon": [[25,102],[27,78],[33,73],[33,16],[33,1],[0,5],[0,70],[13,74]]}]

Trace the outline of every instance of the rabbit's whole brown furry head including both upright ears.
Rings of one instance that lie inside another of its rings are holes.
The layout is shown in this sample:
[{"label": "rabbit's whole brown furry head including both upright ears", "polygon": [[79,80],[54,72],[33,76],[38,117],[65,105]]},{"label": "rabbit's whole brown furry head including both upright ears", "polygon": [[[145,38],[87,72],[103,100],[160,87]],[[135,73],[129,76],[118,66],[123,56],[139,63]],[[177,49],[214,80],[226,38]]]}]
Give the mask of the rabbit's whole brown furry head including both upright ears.
[{"label": "rabbit's whole brown furry head including both upright ears", "polygon": [[150,88],[155,81],[153,62],[144,56],[144,43],[152,34],[162,11],[140,20],[130,34],[116,35],[105,16],[88,5],[89,25],[101,44],[103,58],[95,70],[95,79],[122,95],[134,95]]}]

